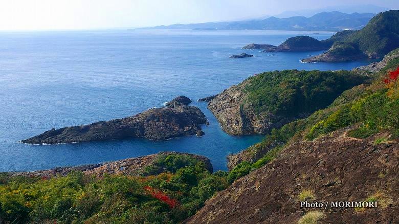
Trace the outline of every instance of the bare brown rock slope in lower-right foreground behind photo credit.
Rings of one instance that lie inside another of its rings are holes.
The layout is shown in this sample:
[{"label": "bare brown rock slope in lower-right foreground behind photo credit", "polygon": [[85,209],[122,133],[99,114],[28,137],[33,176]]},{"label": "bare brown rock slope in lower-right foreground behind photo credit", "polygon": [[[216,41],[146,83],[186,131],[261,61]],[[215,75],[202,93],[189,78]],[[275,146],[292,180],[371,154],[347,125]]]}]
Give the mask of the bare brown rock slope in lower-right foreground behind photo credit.
[{"label": "bare brown rock slope in lower-right foreground behind photo credit", "polygon": [[[206,201],[185,223],[298,223],[314,208],[300,200],[326,203],[322,223],[399,222],[399,143],[375,143],[346,136],[348,129],[286,147],[269,164],[239,178]],[[305,192],[307,196],[300,194]],[[378,200],[378,208],[331,208],[331,201]]]}]

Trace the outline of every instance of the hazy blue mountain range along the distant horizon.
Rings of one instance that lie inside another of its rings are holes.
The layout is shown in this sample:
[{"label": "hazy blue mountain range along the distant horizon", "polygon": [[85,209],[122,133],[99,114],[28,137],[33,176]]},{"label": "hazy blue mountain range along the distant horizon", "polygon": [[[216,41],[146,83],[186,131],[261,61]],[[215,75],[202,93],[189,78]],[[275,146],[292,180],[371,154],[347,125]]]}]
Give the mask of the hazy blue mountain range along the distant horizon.
[{"label": "hazy blue mountain range along the distant horizon", "polygon": [[145,29],[191,29],[191,30],[313,30],[340,31],[359,30],[375,16],[374,13],[321,12],[311,17],[293,16],[289,18],[269,17],[242,21],[224,21],[202,24],[173,24]]}]

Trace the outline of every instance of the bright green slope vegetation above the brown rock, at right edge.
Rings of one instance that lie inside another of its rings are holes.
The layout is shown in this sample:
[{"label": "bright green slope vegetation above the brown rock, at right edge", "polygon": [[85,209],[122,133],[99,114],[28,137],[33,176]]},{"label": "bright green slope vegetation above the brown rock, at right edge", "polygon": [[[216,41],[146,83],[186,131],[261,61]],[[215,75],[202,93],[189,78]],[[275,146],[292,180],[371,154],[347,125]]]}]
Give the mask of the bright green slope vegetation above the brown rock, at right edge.
[{"label": "bright green slope vegetation above the brown rock, at right edge", "polygon": [[[389,55],[398,51],[396,49]],[[399,84],[392,81],[386,85],[383,81],[389,71],[394,71],[398,65],[399,57],[391,59],[380,73],[372,74],[371,77],[375,77],[375,80],[370,85],[348,89],[328,107],[317,110],[307,118],[285,124],[280,129],[273,129],[261,143],[251,146],[251,151],[264,151],[276,142],[289,144],[302,139],[313,140],[349,125],[359,125],[359,128],[348,132],[348,136],[355,138],[367,138],[380,131],[388,131],[394,138],[398,137],[399,119],[392,111],[399,111]],[[229,182],[273,160],[284,147],[272,148],[255,163],[238,164],[230,171]]]}]

